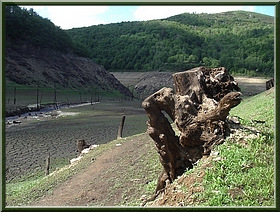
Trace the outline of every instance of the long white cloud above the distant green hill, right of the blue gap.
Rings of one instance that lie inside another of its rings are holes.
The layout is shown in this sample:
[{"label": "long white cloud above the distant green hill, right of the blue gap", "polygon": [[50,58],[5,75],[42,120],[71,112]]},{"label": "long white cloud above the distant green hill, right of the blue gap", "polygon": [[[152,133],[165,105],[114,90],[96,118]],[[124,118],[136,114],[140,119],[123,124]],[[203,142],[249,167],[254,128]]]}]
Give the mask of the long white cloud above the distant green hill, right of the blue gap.
[{"label": "long white cloud above the distant green hill, right of the blue gap", "polygon": [[253,11],[254,6],[140,6],[133,13],[138,21],[168,18],[181,13],[220,13],[233,10]]}]

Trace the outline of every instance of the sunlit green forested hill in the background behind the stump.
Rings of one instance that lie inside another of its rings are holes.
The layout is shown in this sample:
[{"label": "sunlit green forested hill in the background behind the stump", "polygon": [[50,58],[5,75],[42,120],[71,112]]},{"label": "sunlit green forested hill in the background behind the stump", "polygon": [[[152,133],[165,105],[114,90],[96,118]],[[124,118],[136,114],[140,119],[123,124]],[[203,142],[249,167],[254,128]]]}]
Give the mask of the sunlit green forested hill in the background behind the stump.
[{"label": "sunlit green forested hill in the background behind the stump", "polygon": [[184,13],[66,32],[109,71],[182,71],[205,65],[273,75],[274,18],[258,13]]}]

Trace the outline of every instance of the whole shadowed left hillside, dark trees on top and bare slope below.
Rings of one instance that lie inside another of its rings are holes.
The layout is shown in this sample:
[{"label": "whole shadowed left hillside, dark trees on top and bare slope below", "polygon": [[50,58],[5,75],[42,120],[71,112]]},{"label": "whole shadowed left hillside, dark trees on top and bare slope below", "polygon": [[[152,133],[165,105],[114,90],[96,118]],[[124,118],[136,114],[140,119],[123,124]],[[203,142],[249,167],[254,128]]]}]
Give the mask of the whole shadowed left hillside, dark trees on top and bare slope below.
[{"label": "whole shadowed left hillside, dark trees on top and bare slope below", "polygon": [[23,84],[80,90],[118,91],[131,96],[85,47],[32,9],[5,7],[5,77]]}]

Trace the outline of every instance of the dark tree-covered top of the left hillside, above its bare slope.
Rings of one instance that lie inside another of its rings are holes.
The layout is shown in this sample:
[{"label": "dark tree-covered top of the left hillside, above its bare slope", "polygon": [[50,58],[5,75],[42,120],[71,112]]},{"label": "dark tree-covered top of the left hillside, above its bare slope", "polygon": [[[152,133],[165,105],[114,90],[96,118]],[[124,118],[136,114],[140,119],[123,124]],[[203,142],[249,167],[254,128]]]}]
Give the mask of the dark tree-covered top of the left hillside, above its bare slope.
[{"label": "dark tree-covered top of the left hillside, above its bare slope", "polygon": [[16,5],[5,7],[6,47],[18,49],[22,45],[47,48],[62,53],[73,52],[78,56],[87,56],[88,52],[79,42],[50,20],[42,18],[33,9],[27,10]]}]

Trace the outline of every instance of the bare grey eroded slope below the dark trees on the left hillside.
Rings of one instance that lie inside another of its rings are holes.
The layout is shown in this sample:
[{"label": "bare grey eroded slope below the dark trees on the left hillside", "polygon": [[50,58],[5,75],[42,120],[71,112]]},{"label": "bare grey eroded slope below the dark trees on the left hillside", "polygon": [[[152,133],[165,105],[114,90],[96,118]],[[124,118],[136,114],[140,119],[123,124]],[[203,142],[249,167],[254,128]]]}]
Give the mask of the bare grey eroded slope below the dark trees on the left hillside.
[{"label": "bare grey eroded slope below the dark trees on the left hillside", "polygon": [[6,49],[5,76],[18,84],[53,86],[64,88],[115,89],[131,96],[132,93],[104,67],[88,58],[74,54],[22,45]]}]

